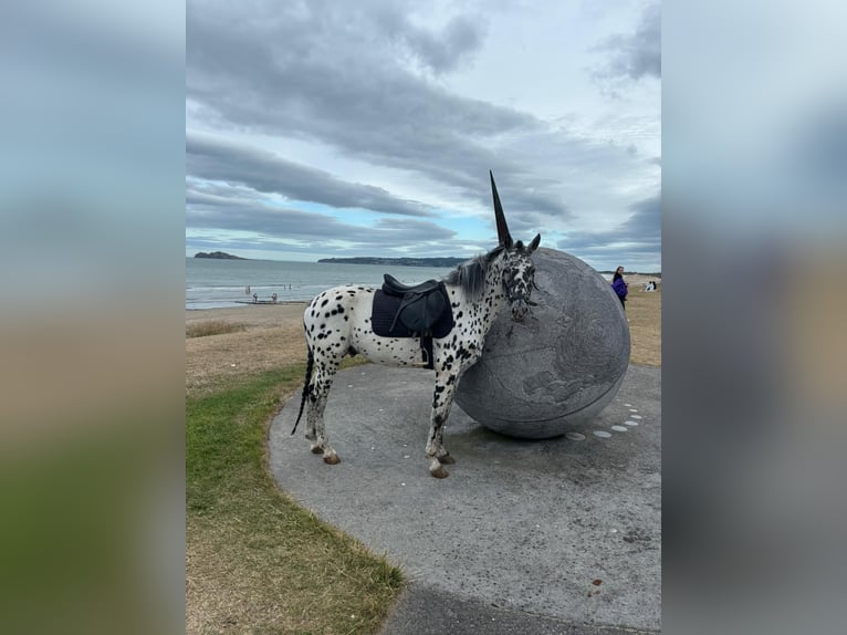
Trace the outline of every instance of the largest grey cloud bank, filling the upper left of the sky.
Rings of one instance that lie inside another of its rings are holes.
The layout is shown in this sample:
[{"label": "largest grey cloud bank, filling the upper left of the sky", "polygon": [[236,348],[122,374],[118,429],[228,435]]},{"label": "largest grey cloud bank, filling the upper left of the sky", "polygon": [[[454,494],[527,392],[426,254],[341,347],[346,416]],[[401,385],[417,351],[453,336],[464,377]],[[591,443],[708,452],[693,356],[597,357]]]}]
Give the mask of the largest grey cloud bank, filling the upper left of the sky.
[{"label": "largest grey cloud bank, filling the upper left of the sky", "polygon": [[305,7],[281,14],[278,3],[259,2],[248,19],[237,3],[189,2],[186,92],[194,115],[222,129],[320,140],[471,197],[488,169],[517,169],[487,144],[537,131],[537,119],[451,94],[396,55],[399,41],[427,65],[454,67],[479,45],[480,17],[454,17],[430,38],[381,4]]}]

